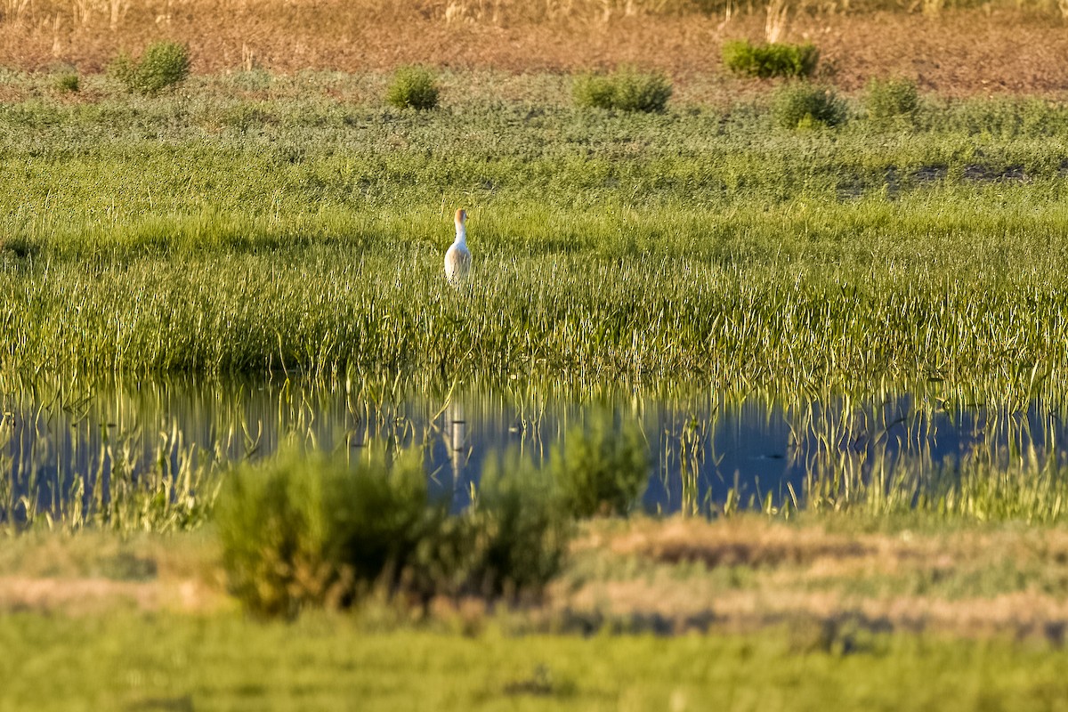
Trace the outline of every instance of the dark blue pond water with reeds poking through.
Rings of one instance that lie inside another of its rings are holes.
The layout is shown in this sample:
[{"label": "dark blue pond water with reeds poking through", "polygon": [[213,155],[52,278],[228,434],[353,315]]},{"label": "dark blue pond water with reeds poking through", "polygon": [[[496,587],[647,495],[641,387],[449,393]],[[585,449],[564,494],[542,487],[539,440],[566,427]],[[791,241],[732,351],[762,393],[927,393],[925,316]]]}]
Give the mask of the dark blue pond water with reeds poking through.
[{"label": "dark blue pond water with reeds poking through", "polygon": [[[425,445],[430,489],[454,510],[470,503],[487,457],[513,448],[543,462],[567,433],[594,418],[637,425],[648,444],[650,512],[710,511],[735,501],[781,506],[803,499],[829,469],[865,473],[900,460],[934,470],[985,448],[1056,450],[1063,407],[1033,400],[975,404],[934,392],[784,399],[725,398],[714,389],[563,392],[537,383],[459,384],[452,391],[310,384],[286,379],[117,383],[92,391],[18,384],[2,392],[0,463],[10,502],[38,510],[70,496],[80,475],[107,486],[116,463],[137,473],[159,458],[191,463],[269,457],[296,439],[325,449],[375,439]],[[82,496],[89,499],[89,493]],[[0,496],[0,508],[4,506]]]}]

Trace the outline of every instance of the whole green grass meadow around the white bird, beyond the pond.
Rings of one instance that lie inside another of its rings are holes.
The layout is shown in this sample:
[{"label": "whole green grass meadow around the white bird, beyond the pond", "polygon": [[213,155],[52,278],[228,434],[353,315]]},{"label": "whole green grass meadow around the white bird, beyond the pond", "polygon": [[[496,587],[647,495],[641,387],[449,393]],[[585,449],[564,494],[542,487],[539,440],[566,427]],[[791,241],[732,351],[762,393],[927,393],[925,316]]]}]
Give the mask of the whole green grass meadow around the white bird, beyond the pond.
[{"label": "whole green grass meadow around the white bird, beyond the pond", "polygon": [[[5,105],[0,363],[738,390],[1066,373],[1063,107],[932,99],[915,131],[798,135],[767,101],[580,111],[551,78],[398,113],[383,81],[87,79],[85,100]],[[440,279],[457,205],[460,295]]]}]

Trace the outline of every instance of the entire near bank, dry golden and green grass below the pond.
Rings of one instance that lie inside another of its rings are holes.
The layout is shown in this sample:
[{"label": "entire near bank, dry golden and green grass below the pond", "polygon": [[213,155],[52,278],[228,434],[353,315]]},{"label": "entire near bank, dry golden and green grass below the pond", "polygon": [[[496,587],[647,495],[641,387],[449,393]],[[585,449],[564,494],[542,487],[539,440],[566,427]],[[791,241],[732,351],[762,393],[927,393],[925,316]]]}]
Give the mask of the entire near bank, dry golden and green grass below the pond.
[{"label": "entire near bank, dry golden and green grass below the pond", "polygon": [[0,703],[1058,709],[1063,531],[864,528],[601,522],[543,608],[284,623],[235,611],[202,536],[36,533],[0,552]]}]

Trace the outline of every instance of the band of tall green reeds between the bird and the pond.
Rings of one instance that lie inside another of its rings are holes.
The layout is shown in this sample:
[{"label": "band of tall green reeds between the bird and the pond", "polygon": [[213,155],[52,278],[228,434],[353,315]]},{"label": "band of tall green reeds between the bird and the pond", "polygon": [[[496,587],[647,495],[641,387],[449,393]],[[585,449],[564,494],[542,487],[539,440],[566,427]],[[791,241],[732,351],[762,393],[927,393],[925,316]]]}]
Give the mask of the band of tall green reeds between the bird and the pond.
[{"label": "band of tall green reeds between the bird and the pond", "polygon": [[[1026,258],[1056,269],[1051,246],[1033,235],[988,249],[1033,244]],[[907,243],[886,239],[899,262],[873,250],[870,265],[851,269],[773,254],[738,265],[487,251],[462,294],[440,279],[440,250],[424,246],[25,259],[0,271],[10,296],[0,307],[3,361],[85,374],[392,368],[674,375],[735,386],[880,376],[1011,382],[1036,365],[1063,378],[1068,285],[1057,272],[1032,263],[998,274],[1012,268],[1002,257],[985,273],[980,265],[993,263],[972,263],[967,250],[927,252],[920,266],[916,253],[900,254]],[[761,248],[773,249],[748,249]]]}]

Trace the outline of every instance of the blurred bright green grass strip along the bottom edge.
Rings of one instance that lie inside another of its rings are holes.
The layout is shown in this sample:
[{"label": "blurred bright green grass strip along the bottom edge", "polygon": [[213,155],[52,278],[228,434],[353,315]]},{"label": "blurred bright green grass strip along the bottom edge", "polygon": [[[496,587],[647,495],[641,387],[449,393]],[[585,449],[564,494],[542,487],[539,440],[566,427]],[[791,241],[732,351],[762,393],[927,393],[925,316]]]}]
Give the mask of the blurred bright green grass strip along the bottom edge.
[{"label": "blurred bright green grass strip along the bottom edge", "polygon": [[[237,645],[236,642],[240,642]],[[851,654],[754,636],[461,637],[348,619],[0,618],[9,709],[1061,709],[1063,650],[868,636]]]}]

